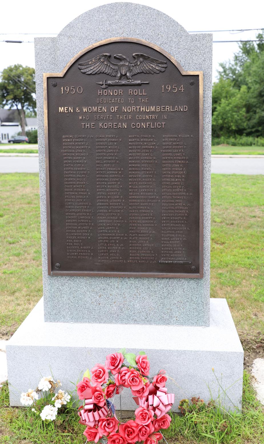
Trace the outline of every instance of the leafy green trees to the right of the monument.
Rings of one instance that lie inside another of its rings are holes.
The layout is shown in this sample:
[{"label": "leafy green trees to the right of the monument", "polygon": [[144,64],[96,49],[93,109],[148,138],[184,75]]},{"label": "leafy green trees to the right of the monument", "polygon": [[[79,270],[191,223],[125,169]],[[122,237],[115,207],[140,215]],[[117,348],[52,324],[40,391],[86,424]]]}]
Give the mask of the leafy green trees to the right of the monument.
[{"label": "leafy green trees to the right of the monument", "polygon": [[264,135],[264,33],[239,44],[213,84],[212,135]]}]

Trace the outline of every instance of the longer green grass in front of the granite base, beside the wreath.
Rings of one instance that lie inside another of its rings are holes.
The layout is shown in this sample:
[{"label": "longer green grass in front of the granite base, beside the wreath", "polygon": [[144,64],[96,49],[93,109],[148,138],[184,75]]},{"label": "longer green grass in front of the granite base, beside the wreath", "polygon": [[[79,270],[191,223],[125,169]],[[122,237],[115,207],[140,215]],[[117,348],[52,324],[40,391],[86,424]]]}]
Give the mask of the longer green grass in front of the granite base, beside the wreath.
[{"label": "longer green grass in front of the granite base, beside the wreath", "polygon": [[[49,424],[43,424],[30,407],[10,408],[8,403],[8,386],[5,383],[0,390],[1,444],[84,444],[85,426],[79,424],[77,415],[80,401],[74,403],[73,408],[66,410],[64,418],[57,416],[57,419]],[[171,414],[171,417],[170,428],[163,432],[168,444],[264,442],[264,411],[256,400],[247,372],[244,372],[241,415],[225,412],[217,403],[211,402],[194,403],[189,406],[184,416]],[[164,444],[164,441],[161,443]]]}]

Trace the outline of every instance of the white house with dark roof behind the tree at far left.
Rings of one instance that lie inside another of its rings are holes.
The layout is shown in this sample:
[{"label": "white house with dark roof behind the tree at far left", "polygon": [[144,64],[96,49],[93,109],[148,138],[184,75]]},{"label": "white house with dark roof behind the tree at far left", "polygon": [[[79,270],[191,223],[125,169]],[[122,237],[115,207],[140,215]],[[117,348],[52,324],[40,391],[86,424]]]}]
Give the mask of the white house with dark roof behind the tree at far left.
[{"label": "white house with dark roof behind the tree at far left", "polygon": [[[26,118],[26,131],[37,130],[36,117]],[[19,114],[16,109],[0,109],[0,143],[7,143],[8,139],[21,131]]]}]

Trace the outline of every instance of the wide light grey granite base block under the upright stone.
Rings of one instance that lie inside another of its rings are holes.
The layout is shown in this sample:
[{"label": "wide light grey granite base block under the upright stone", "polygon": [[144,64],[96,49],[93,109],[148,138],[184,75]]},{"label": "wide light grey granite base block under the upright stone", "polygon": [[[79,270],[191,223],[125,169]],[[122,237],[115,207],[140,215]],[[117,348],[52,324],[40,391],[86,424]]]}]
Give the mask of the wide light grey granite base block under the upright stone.
[{"label": "wide light grey granite base block under the upright stone", "polygon": [[[182,398],[218,399],[225,408],[241,408],[243,349],[225,299],[210,300],[210,326],[112,325],[43,321],[43,300],[8,341],[10,404],[20,405],[20,393],[35,388],[41,375],[53,374],[63,389],[75,389],[83,372],[106,354],[126,347],[145,350],[155,374],[165,369],[174,411]],[[117,400],[118,408],[118,400]],[[122,408],[134,410],[130,390],[122,392]]]}]

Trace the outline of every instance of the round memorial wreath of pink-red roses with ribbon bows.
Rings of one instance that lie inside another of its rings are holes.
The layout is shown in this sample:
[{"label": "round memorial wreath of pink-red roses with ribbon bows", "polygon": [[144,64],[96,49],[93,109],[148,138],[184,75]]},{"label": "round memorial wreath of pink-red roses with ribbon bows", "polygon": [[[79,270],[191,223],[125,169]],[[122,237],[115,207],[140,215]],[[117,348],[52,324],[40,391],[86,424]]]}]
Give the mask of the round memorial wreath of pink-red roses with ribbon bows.
[{"label": "round memorial wreath of pink-red roses with ribbon bows", "polygon": [[[150,362],[145,352],[138,356],[119,350],[106,356],[105,365],[96,364],[77,384],[77,394],[83,404],[78,409],[80,424],[86,425],[83,434],[87,441],[126,444],[144,442],[157,444],[169,428],[167,414],[174,402],[174,394],[167,393],[165,370],[150,377]],[[138,405],[135,419],[121,422],[116,416],[114,397],[123,388],[131,390]],[[164,438],[164,437],[163,437]]]}]

